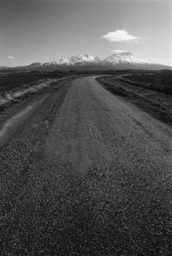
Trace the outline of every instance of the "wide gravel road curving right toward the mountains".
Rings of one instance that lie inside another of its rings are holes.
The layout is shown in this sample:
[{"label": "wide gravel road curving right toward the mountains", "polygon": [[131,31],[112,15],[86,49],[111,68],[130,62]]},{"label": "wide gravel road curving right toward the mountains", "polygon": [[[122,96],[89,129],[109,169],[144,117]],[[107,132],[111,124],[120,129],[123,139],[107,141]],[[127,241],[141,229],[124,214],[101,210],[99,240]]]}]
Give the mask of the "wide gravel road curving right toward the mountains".
[{"label": "wide gravel road curving right toward the mountains", "polygon": [[171,255],[170,126],[95,77],[0,119],[0,255]]}]

